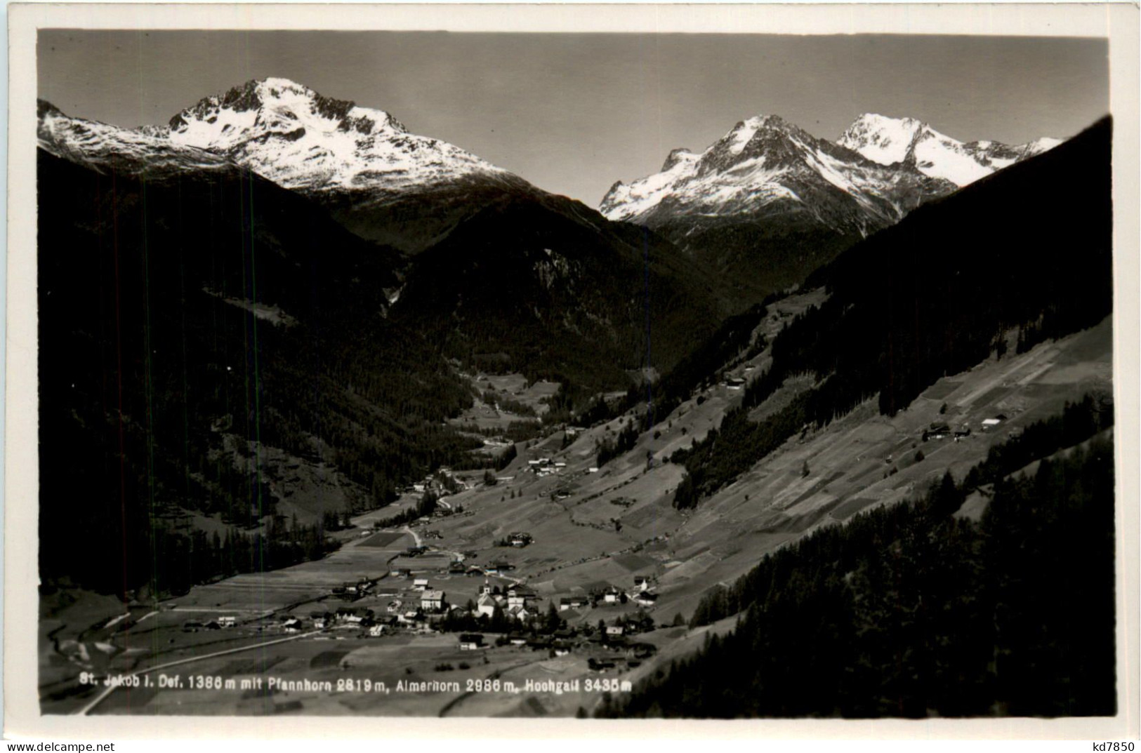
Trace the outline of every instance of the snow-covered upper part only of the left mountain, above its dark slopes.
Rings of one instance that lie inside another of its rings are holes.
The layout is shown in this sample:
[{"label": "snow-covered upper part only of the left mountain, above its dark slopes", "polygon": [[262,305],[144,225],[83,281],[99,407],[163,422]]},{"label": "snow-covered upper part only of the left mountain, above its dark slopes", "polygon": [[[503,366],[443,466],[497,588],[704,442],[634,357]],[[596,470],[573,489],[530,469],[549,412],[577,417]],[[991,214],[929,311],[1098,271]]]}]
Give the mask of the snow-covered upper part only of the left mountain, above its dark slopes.
[{"label": "snow-covered upper part only of the left mountain, above its dark slopes", "polygon": [[[233,163],[302,193],[399,192],[463,180],[521,181],[390,114],[323,97],[288,79],[249,81],[207,97],[168,126],[119,128],[40,107],[40,144],[92,163],[152,160],[168,168]],[[141,165],[139,165],[141,169]]]}]

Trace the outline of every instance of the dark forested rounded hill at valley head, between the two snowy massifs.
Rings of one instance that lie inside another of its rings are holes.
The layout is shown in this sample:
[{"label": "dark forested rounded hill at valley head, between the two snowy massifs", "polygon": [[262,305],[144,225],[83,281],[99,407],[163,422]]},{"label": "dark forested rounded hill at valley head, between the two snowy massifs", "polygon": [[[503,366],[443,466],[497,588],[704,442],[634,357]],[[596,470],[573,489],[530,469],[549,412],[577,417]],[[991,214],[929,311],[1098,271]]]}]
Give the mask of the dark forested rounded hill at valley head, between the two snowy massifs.
[{"label": "dark forested rounded hill at valley head, between the two snowy massifs", "polygon": [[393,317],[466,364],[622,389],[675,364],[718,309],[669,242],[542,194],[501,196],[418,254]]}]

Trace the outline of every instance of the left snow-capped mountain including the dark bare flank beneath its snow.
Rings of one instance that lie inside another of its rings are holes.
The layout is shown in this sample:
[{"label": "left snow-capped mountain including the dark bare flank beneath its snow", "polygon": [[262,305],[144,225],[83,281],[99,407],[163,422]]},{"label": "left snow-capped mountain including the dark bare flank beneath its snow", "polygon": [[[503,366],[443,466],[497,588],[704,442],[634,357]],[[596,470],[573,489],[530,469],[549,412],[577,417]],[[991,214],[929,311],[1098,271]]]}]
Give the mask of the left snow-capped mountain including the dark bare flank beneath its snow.
[{"label": "left snow-capped mountain including the dark bare flank beneath its snow", "polygon": [[322,203],[349,230],[415,253],[523,178],[382,110],[324,97],[288,79],[205,97],[165,126],[127,129],[68,118],[43,103],[40,146],[96,170],[148,178],[244,169]]}]

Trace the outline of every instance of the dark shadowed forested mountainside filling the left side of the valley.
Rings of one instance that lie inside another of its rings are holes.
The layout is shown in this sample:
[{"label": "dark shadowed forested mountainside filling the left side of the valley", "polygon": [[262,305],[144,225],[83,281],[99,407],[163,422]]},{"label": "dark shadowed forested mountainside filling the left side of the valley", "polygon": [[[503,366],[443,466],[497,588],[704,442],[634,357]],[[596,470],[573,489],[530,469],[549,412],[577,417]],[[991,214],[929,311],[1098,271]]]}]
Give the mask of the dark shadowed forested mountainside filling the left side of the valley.
[{"label": "dark shadowed forested mountainside filling the left side of the valley", "polygon": [[[191,545],[180,511],[252,529],[282,499],[234,442],[330,463],[363,504],[470,443],[440,424],[470,394],[386,319],[394,254],[308,200],[236,168],[140,181],[44,152],[38,191],[46,582],[185,586],[160,556]],[[193,577],[304,553],[243,556]]]}]

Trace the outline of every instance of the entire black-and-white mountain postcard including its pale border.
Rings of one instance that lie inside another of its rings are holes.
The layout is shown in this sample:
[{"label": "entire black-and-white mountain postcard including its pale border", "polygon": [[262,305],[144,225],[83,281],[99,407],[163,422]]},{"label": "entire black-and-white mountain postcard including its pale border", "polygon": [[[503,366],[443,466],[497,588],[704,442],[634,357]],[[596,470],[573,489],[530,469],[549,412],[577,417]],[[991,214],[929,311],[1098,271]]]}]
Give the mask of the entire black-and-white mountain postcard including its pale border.
[{"label": "entire black-and-white mountain postcard including its pale border", "polygon": [[34,24],[35,716],[1135,734],[1085,10]]}]

